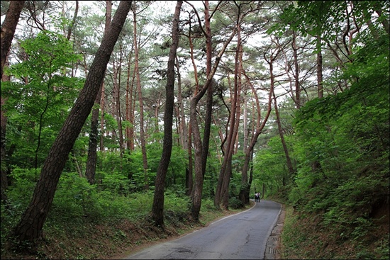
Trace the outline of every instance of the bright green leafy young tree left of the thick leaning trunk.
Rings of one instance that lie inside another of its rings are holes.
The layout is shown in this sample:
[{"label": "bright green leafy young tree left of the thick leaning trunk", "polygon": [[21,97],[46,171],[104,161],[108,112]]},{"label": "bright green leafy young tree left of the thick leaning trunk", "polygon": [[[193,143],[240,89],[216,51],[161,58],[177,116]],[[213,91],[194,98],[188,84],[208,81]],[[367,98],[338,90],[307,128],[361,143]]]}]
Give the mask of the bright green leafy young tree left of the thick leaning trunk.
[{"label": "bright green leafy young tree left of the thick leaning trunk", "polygon": [[28,59],[9,67],[7,73],[16,80],[1,83],[6,98],[1,109],[12,140],[7,145],[16,147],[9,163],[38,167],[82,88],[82,80],[66,76],[80,56],[66,38],[48,30],[22,41],[21,47]]}]

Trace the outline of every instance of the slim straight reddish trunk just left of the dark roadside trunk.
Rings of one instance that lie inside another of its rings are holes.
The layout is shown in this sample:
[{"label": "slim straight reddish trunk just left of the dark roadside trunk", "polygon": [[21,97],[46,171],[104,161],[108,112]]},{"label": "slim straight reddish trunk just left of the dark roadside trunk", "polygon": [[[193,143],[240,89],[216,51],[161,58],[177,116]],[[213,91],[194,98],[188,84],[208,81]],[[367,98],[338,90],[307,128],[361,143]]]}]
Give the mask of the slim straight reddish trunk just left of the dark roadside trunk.
[{"label": "slim straight reddish trunk just left of the dark roadside trunk", "polygon": [[135,55],[135,77],[137,79],[137,90],[138,90],[138,101],[140,101],[140,142],[141,150],[143,153],[143,173],[144,173],[144,189],[147,191],[149,189],[149,177],[147,176],[148,166],[147,166],[147,154],[146,154],[146,142],[145,142],[145,125],[144,125],[144,115],[143,115],[143,95],[141,90],[141,79],[140,79],[140,69],[138,65],[138,40],[137,40],[137,19],[135,7],[133,10],[133,27],[134,27],[134,55]]}]

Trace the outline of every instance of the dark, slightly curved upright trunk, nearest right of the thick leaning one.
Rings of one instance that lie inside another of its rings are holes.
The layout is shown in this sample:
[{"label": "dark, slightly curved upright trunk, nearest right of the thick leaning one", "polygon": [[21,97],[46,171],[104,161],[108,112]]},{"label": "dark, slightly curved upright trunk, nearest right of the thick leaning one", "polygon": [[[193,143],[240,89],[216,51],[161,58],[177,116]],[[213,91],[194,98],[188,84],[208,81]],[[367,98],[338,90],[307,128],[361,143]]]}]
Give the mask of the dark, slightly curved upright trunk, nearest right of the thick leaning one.
[{"label": "dark, slightly curved upright trunk, nearest right of the thick leaning one", "polygon": [[173,142],[172,123],[174,108],[174,60],[176,58],[177,46],[179,45],[179,18],[182,4],[183,1],[177,1],[176,9],[174,11],[172,24],[172,45],[169,51],[169,60],[167,66],[167,86],[165,86],[167,101],[165,102],[164,139],[160,164],[157,169],[155,196],[153,197],[152,205],[152,220],[155,222],[156,226],[164,226],[165,178],[167,176],[169,160],[171,159]]}]

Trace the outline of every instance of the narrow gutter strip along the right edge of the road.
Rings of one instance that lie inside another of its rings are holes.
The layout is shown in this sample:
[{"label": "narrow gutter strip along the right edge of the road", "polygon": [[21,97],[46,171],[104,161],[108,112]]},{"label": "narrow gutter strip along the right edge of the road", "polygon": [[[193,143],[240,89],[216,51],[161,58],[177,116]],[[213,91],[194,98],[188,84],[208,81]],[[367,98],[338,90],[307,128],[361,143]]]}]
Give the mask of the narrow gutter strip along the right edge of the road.
[{"label": "narrow gutter strip along the right edge of the road", "polygon": [[281,259],[280,244],[285,218],[286,206],[282,204],[277,223],[272,229],[265,246],[264,259]]}]

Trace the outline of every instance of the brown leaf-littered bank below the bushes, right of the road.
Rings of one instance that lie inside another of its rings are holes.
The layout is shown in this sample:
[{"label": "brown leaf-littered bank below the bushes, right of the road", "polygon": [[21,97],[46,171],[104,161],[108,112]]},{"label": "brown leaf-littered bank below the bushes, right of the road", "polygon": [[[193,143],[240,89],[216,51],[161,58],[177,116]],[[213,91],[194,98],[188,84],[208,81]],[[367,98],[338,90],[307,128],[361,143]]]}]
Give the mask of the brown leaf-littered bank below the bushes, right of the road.
[{"label": "brown leaf-littered bank below the bushes, right of the road", "polygon": [[[321,215],[300,214],[286,205],[279,259],[389,259],[389,204],[372,214],[372,224],[355,238],[321,225]],[[353,228],[352,226],[350,228]]]}]

